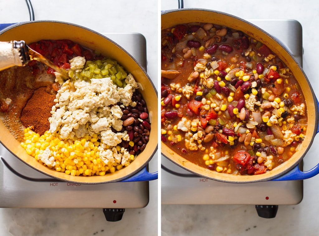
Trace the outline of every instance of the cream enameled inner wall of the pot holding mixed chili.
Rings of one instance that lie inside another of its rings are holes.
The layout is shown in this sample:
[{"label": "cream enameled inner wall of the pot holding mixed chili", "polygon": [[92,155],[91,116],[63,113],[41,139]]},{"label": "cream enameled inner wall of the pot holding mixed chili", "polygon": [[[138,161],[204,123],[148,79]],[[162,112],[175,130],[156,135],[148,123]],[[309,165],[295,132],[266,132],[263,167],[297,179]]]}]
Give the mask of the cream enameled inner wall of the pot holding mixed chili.
[{"label": "cream enameled inner wall of the pot holding mixed chili", "polygon": [[[225,182],[255,182],[255,181],[265,181],[278,177],[287,171],[291,170],[296,166],[300,160],[305,156],[310,145],[312,144],[313,138],[315,136],[317,128],[317,106],[314,92],[309,85],[309,81],[303,72],[300,65],[293,58],[293,56],[275,39],[273,39],[269,34],[256,27],[255,25],[228,15],[223,12],[210,11],[205,9],[182,9],[182,10],[172,10],[165,11],[161,16],[161,29],[166,29],[178,24],[190,23],[190,22],[203,22],[203,23],[214,23],[222,26],[227,26],[230,28],[238,29],[248,34],[249,36],[255,38],[256,40],[263,42],[267,45],[275,54],[277,54],[291,69],[295,77],[297,78],[302,92],[306,98],[307,113],[308,113],[308,127],[307,133],[304,141],[302,142],[300,149],[286,162],[274,168],[271,171],[260,175],[242,175],[235,176],[231,174],[218,173],[216,171],[210,171],[207,168],[203,168],[193,164],[184,157],[173,152],[165,143],[162,142],[161,152],[169,160],[175,164],[181,166],[182,168],[193,172],[199,176],[215,179]],[[311,157],[309,157],[311,158]],[[315,157],[312,157],[315,158]]]}]

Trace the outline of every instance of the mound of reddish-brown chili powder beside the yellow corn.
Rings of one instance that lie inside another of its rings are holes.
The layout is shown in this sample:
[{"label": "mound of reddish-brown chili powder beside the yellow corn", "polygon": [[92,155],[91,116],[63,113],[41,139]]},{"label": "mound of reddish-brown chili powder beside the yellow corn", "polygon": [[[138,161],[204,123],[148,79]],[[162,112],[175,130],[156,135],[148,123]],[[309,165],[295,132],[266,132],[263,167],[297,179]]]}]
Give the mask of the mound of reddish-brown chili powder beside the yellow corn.
[{"label": "mound of reddish-brown chili powder beside the yellow corn", "polygon": [[48,118],[51,117],[52,106],[56,104],[55,98],[56,96],[46,92],[44,87],[35,90],[21,112],[21,123],[25,127],[33,126],[35,133],[44,134],[50,129]]}]

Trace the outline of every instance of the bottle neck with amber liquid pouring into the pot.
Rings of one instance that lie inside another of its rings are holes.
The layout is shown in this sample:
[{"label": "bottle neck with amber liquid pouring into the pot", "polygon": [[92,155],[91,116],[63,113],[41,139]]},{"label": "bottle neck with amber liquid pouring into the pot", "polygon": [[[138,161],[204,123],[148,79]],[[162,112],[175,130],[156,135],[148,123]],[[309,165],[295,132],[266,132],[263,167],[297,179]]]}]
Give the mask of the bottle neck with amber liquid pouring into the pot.
[{"label": "bottle neck with amber liquid pouring into the pot", "polygon": [[66,79],[70,78],[67,72],[29,48],[23,40],[0,42],[0,71],[12,66],[25,66],[31,60],[40,61],[61,74],[62,77]]}]

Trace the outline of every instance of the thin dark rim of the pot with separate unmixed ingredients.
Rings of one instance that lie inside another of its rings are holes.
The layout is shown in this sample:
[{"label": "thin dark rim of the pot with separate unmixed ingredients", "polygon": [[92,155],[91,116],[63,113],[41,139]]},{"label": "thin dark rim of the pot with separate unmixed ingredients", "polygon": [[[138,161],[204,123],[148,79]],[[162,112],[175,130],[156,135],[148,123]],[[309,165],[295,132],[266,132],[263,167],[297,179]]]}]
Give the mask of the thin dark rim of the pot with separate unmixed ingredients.
[{"label": "thin dark rim of the pot with separate unmixed ingredients", "polygon": [[[157,89],[153,83],[153,81],[151,80],[151,78],[149,77],[149,75],[147,74],[146,70],[143,68],[143,66],[134,58],[132,57],[132,55],[130,55],[129,52],[127,52],[124,48],[122,48],[122,46],[120,46],[119,44],[117,44],[116,42],[114,42],[113,40],[109,39],[107,36],[103,35],[103,34],[100,34],[92,29],[89,29],[87,27],[84,27],[84,26],[80,26],[80,25],[77,25],[77,24],[74,24],[74,23],[70,23],[70,22],[64,22],[64,21],[57,21],[57,20],[34,20],[34,21],[25,21],[25,22],[19,22],[19,23],[15,23],[15,24],[12,24],[11,26],[8,26],[6,28],[4,28],[3,30],[0,31],[0,35],[13,29],[13,28],[17,28],[17,27],[20,27],[20,26],[23,26],[23,25],[31,25],[31,24],[36,24],[36,23],[57,23],[57,24],[64,24],[64,25],[70,25],[72,27],[78,27],[78,28],[81,28],[81,29],[84,29],[84,30],[87,30],[93,34],[96,34],[100,37],[103,37],[105,38],[106,40],[108,40],[109,42],[111,42],[112,44],[114,44],[116,47],[118,47],[119,49],[121,49],[125,54],[127,54],[133,61],[134,63],[137,64],[137,66],[142,70],[143,72],[143,75],[148,79],[149,83],[151,84],[152,88],[154,89],[154,92],[156,94],[156,97],[158,96],[157,95]],[[143,35],[142,35],[143,36]],[[144,36],[143,36],[144,37]],[[157,125],[154,123],[154,125]],[[158,143],[155,145],[154,147],[154,150],[152,150],[152,153],[150,153],[150,155],[148,156],[148,158],[146,158],[145,162],[142,163],[142,165],[140,165],[138,168],[136,168],[135,170],[131,171],[130,173],[124,175],[124,176],[121,176],[121,177],[118,177],[116,179],[110,179],[110,180],[106,180],[106,181],[95,181],[95,182],[85,182],[85,181],[78,181],[78,180],[69,180],[69,179],[66,179],[66,178],[61,178],[61,177],[58,177],[58,176],[55,176],[55,175],[51,175],[50,173],[47,173],[45,171],[42,171],[40,169],[38,169],[36,166],[33,166],[32,164],[29,164],[28,162],[22,160],[18,155],[16,155],[15,153],[13,153],[13,151],[8,148],[2,140],[0,140],[0,143],[13,155],[15,156],[18,160],[22,161],[23,163],[27,164],[28,166],[30,166],[31,168],[33,168],[34,170],[36,171],[39,171],[40,173],[42,174],[45,174],[51,178],[54,178],[54,179],[58,179],[58,180],[61,180],[63,182],[71,182],[71,183],[79,183],[79,184],[104,184],[104,183],[111,183],[111,182],[120,182],[122,180],[125,180],[135,174],[137,174],[139,171],[142,171],[143,168],[145,168],[145,166],[148,164],[148,162],[152,159],[152,157],[154,156],[154,154],[157,152],[157,149],[158,149]],[[139,154],[141,155],[141,154]],[[111,174],[111,173],[108,173],[108,174]],[[67,174],[65,174],[66,176],[69,176]],[[85,180],[86,178],[98,178],[98,176],[90,176],[90,177],[84,177],[83,176],[83,180]],[[141,179],[140,181],[143,181],[143,179]]]}]

